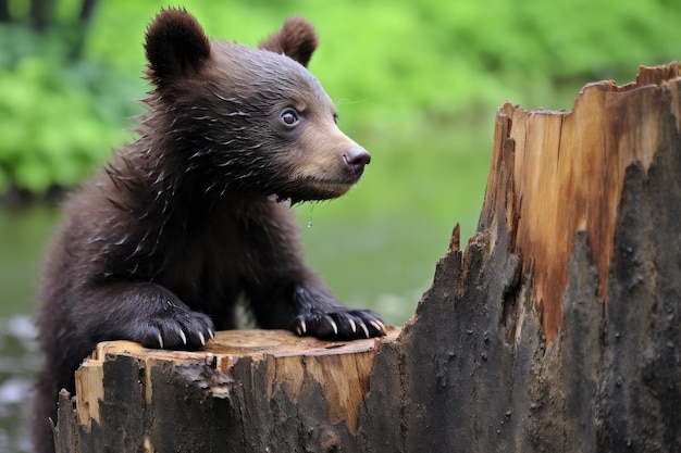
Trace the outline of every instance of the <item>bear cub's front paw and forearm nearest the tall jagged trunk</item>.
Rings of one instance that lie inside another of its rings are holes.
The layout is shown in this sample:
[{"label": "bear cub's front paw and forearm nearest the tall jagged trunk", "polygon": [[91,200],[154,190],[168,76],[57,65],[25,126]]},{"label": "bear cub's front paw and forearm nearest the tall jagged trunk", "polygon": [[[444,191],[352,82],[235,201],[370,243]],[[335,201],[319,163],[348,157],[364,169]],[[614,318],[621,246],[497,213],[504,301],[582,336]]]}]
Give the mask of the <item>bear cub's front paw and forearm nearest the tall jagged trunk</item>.
[{"label": "bear cub's front paw and forearm nearest the tall jagged trunk", "polygon": [[[357,340],[385,335],[383,319],[372,310],[344,306],[310,272],[299,281],[287,281],[269,297],[251,299],[261,327],[283,328],[299,336],[325,340]],[[265,303],[262,303],[267,301]]]}]

